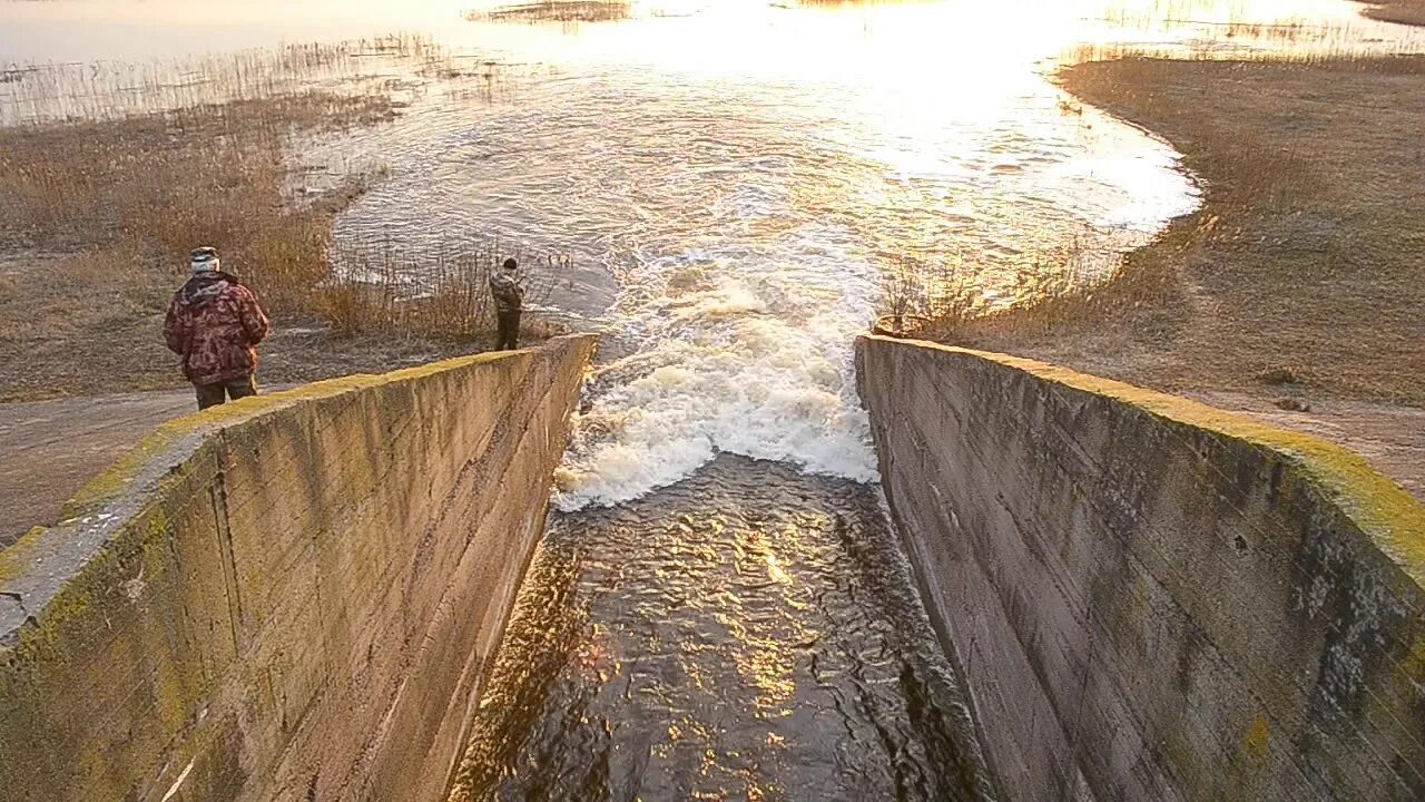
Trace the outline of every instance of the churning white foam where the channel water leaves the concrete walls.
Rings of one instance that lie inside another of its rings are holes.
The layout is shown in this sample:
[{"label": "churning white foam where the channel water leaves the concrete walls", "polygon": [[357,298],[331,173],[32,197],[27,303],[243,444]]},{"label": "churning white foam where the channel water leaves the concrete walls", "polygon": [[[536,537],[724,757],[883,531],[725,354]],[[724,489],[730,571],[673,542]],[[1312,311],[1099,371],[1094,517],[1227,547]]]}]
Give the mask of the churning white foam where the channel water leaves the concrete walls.
[{"label": "churning white foam where the channel water leaves the concrete walls", "polygon": [[875,293],[865,258],[805,225],[775,253],[685,253],[644,265],[624,288],[576,417],[556,504],[617,504],[665,487],[718,452],[875,481],[855,397],[852,342]]}]

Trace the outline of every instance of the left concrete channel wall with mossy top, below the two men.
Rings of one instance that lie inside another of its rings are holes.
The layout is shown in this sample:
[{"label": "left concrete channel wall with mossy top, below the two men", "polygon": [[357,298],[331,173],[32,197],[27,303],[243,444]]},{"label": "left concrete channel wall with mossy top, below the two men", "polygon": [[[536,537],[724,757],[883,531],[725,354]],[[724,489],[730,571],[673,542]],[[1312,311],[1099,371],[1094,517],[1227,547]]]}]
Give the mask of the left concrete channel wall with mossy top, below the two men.
[{"label": "left concrete channel wall with mossy top, below the two men", "polygon": [[440,798],[593,347],[160,430],[0,552],[0,799]]}]

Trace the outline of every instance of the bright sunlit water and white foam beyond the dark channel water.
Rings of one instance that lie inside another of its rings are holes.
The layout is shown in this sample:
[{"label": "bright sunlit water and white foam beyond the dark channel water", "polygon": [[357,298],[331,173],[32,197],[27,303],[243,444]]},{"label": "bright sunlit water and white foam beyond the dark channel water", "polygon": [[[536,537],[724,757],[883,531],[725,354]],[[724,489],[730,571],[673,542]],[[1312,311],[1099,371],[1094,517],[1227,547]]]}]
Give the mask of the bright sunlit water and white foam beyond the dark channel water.
[{"label": "bright sunlit water and white foam beyond the dark channel water", "polygon": [[[420,253],[497,234],[574,255],[553,305],[607,327],[610,360],[570,454],[567,508],[634,498],[721,451],[871,478],[848,344],[888,265],[973,287],[978,308],[1032,303],[1107,280],[1120,254],[1190,211],[1170,148],[1053,86],[1066,49],[1416,46],[1344,0],[634,1],[624,21],[576,27],[482,17],[507,9],[494,1],[473,20],[443,0],[192,6],[4,4],[0,41],[121,54],[131,39],[110,31],[145,19],[157,33],[135,39],[155,50],[205,26],[227,46],[302,36],[314,9],[329,13],[323,36],[429,31],[437,68],[348,54],[312,78],[398,91],[399,120],[291,150],[304,178],[353,164],[388,176],[339,220],[348,244]],[[63,37],[27,37],[60,23]],[[74,107],[123,94],[128,78],[113,74],[77,81]],[[278,74],[255,84],[289,87]],[[145,76],[125,97],[164,96]],[[0,107],[7,93],[48,94],[40,80],[0,84]],[[194,84],[175,86],[181,101]]]}]

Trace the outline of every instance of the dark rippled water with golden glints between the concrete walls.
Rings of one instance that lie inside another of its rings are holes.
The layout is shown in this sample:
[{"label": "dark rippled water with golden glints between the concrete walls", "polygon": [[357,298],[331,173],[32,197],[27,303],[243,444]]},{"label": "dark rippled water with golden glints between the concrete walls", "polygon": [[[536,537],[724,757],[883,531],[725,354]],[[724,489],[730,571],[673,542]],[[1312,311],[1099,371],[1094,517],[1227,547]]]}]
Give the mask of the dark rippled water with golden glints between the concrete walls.
[{"label": "dark rippled water with golden glints between the concrete walls", "polygon": [[962,694],[846,479],[722,457],[554,515],[462,788],[475,799],[980,799]]}]

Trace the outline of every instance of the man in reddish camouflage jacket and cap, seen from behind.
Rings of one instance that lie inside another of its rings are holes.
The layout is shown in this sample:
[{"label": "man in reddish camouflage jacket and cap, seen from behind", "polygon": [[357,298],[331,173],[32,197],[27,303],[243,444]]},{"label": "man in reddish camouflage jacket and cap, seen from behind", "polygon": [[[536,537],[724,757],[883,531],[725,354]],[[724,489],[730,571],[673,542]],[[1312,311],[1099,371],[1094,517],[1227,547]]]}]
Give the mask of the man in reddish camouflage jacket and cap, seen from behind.
[{"label": "man in reddish camouflage jacket and cap, seen from behind", "polygon": [[174,294],[164,321],[168,350],[182,357],[182,372],[198,391],[198,408],[258,394],[256,344],[268,320],[252,291],[222,273],[218,251],[197,248],[192,278]]}]

